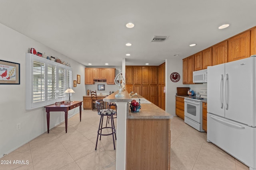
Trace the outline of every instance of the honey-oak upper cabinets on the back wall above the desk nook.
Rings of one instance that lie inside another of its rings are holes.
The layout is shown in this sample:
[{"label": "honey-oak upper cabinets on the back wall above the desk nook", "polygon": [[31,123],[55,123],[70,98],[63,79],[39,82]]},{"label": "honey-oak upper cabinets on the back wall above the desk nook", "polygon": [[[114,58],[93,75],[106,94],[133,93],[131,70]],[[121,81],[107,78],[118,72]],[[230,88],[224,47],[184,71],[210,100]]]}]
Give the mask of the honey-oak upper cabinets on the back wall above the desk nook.
[{"label": "honey-oak upper cabinets on the back wall above the desk nook", "polygon": [[116,68],[85,68],[85,84],[93,84],[94,79],[105,80],[107,84],[115,84]]}]

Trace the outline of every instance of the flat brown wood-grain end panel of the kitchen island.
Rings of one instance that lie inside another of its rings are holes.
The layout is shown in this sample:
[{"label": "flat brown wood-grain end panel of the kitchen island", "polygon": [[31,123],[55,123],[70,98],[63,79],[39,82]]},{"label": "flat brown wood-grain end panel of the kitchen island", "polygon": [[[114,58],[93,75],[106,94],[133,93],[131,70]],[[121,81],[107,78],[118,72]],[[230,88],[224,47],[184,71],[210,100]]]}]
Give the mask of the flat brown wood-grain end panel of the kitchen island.
[{"label": "flat brown wood-grain end panel of the kitchen island", "polygon": [[170,119],[127,119],[126,170],[170,170]]}]

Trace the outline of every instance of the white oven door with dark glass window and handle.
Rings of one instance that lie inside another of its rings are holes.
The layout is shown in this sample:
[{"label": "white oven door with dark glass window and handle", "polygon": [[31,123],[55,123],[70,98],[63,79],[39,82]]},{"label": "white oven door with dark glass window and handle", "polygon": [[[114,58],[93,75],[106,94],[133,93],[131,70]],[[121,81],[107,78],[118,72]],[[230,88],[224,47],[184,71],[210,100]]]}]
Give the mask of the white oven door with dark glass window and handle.
[{"label": "white oven door with dark glass window and handle", "polygon": [[202,102],[185,99],[184,115],[198,123],[201,123]]}]

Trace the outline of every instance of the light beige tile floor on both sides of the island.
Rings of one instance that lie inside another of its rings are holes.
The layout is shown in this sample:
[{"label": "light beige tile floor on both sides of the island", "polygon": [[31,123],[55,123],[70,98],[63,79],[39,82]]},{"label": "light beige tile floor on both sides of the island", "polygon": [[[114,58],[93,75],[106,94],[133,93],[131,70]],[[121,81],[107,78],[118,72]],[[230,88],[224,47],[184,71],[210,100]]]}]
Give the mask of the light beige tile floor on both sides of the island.
[{"label": "light beige tile floor on both sides of the island", "polygon": [[[65,123],[50,129],[49,134],[2,157],[0,160],[11,160],[12,164],[0,164],[0,170],[115,170],[112,136],[103,136],[95,150],[99,120],[96,111],[83,110],[81,122],[79,114],[68,119],[68,133]],[[13,164],[13,160],[24,160],[24,164]],[[170,165],[171,170],[249,170],[208,143],[206,133],[196,131],[179,117],[171,119]]]}]

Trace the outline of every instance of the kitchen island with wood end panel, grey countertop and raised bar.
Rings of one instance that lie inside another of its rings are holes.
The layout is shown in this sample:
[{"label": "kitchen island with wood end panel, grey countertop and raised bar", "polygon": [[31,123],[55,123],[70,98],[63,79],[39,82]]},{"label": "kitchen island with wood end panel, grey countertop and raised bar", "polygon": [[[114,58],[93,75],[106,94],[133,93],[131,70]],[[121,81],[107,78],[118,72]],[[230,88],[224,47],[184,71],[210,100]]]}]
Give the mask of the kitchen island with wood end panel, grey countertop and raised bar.
[{"label": "kitchen island with wood end panel, grey countertop and raised bar", "polygon": [[117,93],[103,99],[116,102],[118,109],[116,169],[169,170],[172,115],[152,103],[132,113],[128,92],[122,92],[124,97],[115,97]]}]

